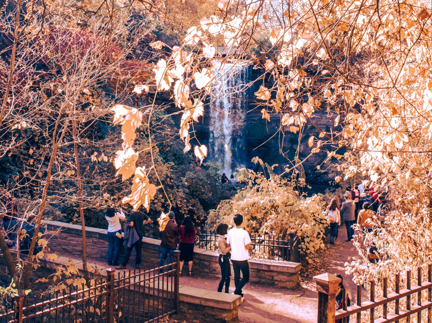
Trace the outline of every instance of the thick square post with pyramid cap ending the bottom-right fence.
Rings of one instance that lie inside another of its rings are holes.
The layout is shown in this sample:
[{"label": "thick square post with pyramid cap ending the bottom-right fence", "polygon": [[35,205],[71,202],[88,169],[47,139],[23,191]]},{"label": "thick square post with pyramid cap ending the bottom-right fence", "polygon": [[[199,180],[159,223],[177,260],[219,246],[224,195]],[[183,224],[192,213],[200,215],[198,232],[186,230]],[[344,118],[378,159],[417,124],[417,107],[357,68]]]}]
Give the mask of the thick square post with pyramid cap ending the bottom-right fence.
[{"label": "thick square post with pyramid cap ending the bottom-right fence", "polygon": [[315,276],[314,280],[318,291],[318,322],[334,323],[336,292],[342,280],[328,273]]}]

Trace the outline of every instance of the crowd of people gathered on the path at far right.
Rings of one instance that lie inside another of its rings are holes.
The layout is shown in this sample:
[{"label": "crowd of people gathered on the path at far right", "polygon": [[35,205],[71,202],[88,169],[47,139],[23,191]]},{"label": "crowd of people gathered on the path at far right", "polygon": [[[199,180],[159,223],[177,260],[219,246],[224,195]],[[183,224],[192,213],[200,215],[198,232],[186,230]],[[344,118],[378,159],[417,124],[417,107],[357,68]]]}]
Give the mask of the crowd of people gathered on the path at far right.
[{"label": "crowd of people gathered on the path at far right", "polygon": [[357,228],[370,255],[369,260],[376,262],[376,246],[364,238],[366,233],[385,225],[385,217],[389,211],[385,192],[380,192],[377,186],[366,187],[361,183],[354,188],[348,187],[343,199],[343,203],[340,204],[338,196],[333,196],[325,210],[330,221],[330,244],[339,241],[338,228],[344,222],[347,236],[344,242],[352,242],[354,229]]}]

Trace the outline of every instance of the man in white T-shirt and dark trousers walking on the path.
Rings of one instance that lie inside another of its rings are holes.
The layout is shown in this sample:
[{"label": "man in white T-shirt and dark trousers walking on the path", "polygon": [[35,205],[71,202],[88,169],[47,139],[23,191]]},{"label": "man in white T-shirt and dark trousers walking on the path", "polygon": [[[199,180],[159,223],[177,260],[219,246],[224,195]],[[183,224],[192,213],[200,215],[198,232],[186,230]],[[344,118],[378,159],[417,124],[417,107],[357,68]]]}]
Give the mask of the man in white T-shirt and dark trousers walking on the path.
[{"label": "man in white T-shirt and dark trousers walking on the path", "polygon": [[[252,249],[252,242],[249,234],[242,228],[243,216],[234,215],[235,228],[228,231],[226,242],[231,246],[231,262],[234,270],[234,295],[243,297],[241,289],[249,281],[249,251]],[[240,271],[243,277],[240,280]]]}]

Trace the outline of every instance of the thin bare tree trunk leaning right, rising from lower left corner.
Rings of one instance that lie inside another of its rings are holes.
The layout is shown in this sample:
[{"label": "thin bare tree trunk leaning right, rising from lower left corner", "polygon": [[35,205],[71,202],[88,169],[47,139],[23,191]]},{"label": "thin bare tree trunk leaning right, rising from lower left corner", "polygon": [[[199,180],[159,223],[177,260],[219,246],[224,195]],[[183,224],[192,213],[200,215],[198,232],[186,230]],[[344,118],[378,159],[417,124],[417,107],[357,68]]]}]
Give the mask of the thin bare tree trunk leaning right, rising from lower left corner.
[{"label": "thin bare tree trunk leaning right, rising from lower left corner", "polygon": [[[57,119],[57,123],[56,126],[54,128],[54,134],[53,134],[53,151],[49,160],[49,164],[48,164],[48,168],[46,171],[46,181],[45,184],[43,186],[43,191],[42,191],[42,199],[40,202],[40,206],[39,206],[39,211],[37,214],[37,221],[36,221],[36,226],[34,228],[34,234],[33,234],[33,238],[31,240],[31,244],[30,244],[30,250],[28,251],[28,256],[27,256],[27,261],[24,265],[24,270],[22,271],[21,277],[18,281],[18,289],[24,289],[25,287],[28,287],[30,284],[30,269],[31,269],[31,264],[33,262],[33,251],[34,251],[34,247],[36,246],[36,242],[37,242],[37,236],[39,234],[39,228],[40,228],[40,224],[42,222],[42,215],[43,215],[43,211],[45,210],[45,204],[46,204],[46,200],[48,198],[48,186],[51,183],[51,170],[52,170],[52,166],[54,164],[56,155],[57,155],[57,149],[60,146],[61,141],[63,140],[63,137],[66,133],[66,130],[68,128],[68,124],[67,123],[63,130],[62,133],[60,135],[60,138],[58,141],[56,141],[56,132],[57,132],[57,127],[60,123],[60,115],[61,115],[61,111],[59,113],[59,117]],[[23,286],[22,286],[23,284]],[[24,288],[22,288],[24,287]]]}]

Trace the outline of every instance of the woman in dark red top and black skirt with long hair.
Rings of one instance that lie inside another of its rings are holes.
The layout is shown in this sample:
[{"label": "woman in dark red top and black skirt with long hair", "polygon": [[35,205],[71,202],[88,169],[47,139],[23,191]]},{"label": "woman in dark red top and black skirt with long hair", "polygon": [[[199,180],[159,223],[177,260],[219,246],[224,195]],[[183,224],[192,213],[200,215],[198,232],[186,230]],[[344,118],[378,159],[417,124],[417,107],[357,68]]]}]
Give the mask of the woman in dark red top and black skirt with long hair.
[{"label": "woman in dark red top and black skirt with long hair", "polygon": [[192,275],[192,264],[194,255],[194,240],[197,234],[197,229],[192,223],[192,218],[187,216],[183,219],[183,223],[179,229],[180,238],[180,275],[182,274],[183,264],[186,261],[189,265],[188,276]]}]

